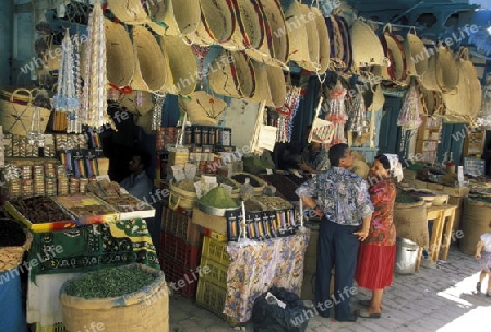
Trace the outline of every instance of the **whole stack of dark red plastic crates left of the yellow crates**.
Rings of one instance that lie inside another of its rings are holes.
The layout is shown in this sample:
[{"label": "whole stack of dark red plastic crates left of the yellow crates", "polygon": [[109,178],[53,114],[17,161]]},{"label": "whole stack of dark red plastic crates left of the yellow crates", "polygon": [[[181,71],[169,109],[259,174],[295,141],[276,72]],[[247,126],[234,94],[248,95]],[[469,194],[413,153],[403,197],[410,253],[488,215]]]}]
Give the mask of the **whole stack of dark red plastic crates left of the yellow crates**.
[{"label": "whole stack of dark red plastic crates left of the yellow crates", "polygon": [[200,275],[202,236],[191,216],[189,210],[165,206],[160,234],[160,266],[166,281],[185,297],[195,296]]}]

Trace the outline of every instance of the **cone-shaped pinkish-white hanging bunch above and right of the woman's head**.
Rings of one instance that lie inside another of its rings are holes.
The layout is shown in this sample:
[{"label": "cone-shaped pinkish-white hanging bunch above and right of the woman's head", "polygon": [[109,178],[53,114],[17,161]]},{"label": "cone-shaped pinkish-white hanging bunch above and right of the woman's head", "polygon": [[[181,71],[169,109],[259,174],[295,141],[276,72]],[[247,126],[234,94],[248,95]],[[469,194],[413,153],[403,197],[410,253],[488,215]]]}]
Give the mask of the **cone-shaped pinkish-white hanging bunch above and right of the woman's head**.
[{"label": "cone-shaped pinkish-white hanging bunch above and right of the woman's head", "polygon": [[415,81],[411,80],[409,90],[404,97],[399,116],[397,117],[397,126],[400,126],[403,129],[399,147],[402,152],[406,152],[408,132],[410,133],[412,130],[418,129],[422,123],[421,117],[419,116],[420,111],[418,91]]}]

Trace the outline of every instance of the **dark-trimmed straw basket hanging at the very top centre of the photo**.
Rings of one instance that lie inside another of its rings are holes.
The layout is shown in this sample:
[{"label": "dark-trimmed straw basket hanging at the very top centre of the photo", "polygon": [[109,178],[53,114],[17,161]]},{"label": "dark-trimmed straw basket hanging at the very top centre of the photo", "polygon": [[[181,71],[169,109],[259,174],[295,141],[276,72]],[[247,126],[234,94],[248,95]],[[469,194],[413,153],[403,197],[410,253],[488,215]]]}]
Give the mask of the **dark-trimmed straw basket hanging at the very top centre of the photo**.
[{"label": "dark-trimmed straw basket hanging at the very top centre of the photo", "polygon": [[236,19],[246,48],[260,48],[264,39],[263,11],[258,0],[232,0]]}]

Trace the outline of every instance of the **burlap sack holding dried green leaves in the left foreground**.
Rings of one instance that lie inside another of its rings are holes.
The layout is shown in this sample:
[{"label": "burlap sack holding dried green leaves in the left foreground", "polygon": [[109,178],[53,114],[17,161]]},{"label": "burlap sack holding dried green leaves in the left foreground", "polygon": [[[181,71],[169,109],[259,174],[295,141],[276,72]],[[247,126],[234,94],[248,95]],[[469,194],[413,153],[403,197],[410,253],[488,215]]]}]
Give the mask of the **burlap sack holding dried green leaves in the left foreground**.
[{"label": "burlap sack holding dried green leaves in the left foreground", "polygon": [[67,283],[63,284],[60,301],[67,330],[83,331],[96,322],[106,332],[169,331],[169,290],[164,272],[143,264],[137,266],[155,275],[155,281],[139,292],[120,297],[85,299],[69,296],[65,293]]}]

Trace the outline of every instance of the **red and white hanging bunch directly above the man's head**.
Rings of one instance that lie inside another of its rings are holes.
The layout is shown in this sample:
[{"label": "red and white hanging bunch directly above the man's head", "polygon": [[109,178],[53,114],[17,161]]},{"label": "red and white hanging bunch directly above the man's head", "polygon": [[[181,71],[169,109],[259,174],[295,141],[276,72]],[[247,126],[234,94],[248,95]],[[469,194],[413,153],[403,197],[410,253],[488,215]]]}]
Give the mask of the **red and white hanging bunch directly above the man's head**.
[{"label": "red and white hanging bunch directly above the man's head", "polygon": [[336,86],[328,91],[328,108],[323,111],[326,112],[326,120],[331,121],[334,126],[334,137],[331,141],[331,145],[338,143],[346,143],[345,138],[345,123],[348,119],[346,115],[345,97],[347,90],[343,87],[339,81]]}]

